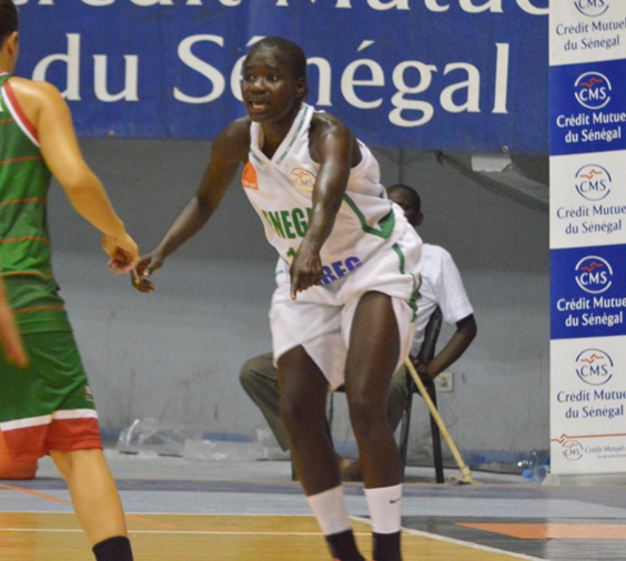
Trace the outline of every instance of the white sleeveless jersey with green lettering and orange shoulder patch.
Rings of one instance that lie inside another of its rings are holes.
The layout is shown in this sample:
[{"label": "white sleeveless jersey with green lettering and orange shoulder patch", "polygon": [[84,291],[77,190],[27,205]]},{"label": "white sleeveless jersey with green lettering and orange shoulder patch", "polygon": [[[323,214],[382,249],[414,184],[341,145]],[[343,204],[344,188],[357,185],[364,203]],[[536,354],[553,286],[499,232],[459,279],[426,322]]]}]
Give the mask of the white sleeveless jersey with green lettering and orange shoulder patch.
[{"label": "white sleeveless jersey with green lettering and orange shoulder patch", "polygon": [[[263,130],[250,129],[249,163],[243,186],[256,210],[267,241],[291,263],[306,232],[319,164],[309,152],[309,129],[314,109],[302,104],[287,135],[269,159],[262,151]],[[380,183],[378,163],[360,142],[362,160],[350,172],[347,187],[333,231],[321,251],[325,276],[322,284],[347,275],[383,243],[400,238],[410,227],[404,214],[394,212]]]}]

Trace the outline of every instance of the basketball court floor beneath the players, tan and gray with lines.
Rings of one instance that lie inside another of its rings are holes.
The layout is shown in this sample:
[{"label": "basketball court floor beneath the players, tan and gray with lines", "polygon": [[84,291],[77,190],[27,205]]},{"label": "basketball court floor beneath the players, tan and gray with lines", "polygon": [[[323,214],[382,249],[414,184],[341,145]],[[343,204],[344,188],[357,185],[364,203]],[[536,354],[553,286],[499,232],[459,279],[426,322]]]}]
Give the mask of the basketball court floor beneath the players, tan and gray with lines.
[{"label": "basketball court floor beneath the players, tan and gray with lines", "polygon": [[[108,451],[137,560],[320,561],[324,540],[289,461],[198,462]],[[408,560],[625,560],[626,484],[542,486],[474,472],[435,484],[408,468]],[[448,476],[458,475],[446,470]],[[345,486],[364,554],[371,527],[360,483]],[[0,560],[90,560],[69,493],[48,458],[36,479],[0,481]]]}]

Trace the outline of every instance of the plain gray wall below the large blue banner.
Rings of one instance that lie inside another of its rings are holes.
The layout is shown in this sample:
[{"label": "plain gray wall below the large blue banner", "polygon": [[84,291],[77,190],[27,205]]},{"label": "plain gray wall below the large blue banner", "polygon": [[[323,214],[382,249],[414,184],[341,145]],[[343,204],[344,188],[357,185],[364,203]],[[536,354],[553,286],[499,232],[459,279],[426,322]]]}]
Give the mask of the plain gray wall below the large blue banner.
[{"label": "plain gray wall below the large blue banner", "polygon": [[[81,141],[85,159],[141,251],[150,251],[194,192],[208,142]],[[440,410],[462,450],[548,446],[548,217],[486,191],[433,154],[378,152],[385,184],[415,186],[422,237],[454,256],[478,336],[451,367]],[[402,165],[398,163],[402,161]],[[208,226],[133,290],[105,268],[100,236],[58,185],[50,202],[55,274],[68,303],[103,427],[135,418],[254,435],[264,426],[239,386],[241,364],[270,349],[273,249],[235,182]],[[452,328],[444,329],[442,339]],[[351,440],[337,398],[335,438]],[[416,399],[413,449],[427,448]]]}]

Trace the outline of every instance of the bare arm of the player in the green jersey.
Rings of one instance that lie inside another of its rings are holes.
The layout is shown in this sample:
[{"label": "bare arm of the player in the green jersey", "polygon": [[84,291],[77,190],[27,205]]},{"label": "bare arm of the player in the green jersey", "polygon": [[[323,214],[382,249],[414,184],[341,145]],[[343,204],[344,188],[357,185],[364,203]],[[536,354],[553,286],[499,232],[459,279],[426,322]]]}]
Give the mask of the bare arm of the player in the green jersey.
[{"label": "bare arm of the player in the green jersey", "polygon": [[77,212],[103,234],[109,266],[128,273],[135,264],[138,248],[115,214],[102,183],[87,165],[74,133],[68,104],[59,90],[47,82],[12,79],[23,111],[37,129],[46,164],[63,187]]}]

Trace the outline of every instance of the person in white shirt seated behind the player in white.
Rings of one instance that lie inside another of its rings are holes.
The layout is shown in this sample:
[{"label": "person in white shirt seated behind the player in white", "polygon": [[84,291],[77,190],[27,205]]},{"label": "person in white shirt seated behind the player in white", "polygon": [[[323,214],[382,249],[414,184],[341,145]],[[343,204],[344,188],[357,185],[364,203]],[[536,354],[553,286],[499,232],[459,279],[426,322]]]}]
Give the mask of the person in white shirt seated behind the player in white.
[{"label": "person in white shirt seated behind the player in white", "polygon": [[[424,215],[422,202],[415,190],[407,185],[396,184],[387,187],[388,197],[400,205],[408,222],[417,228]],[[467,298],[461,274],[452,256],[443,247],[424,244],[424,269],[422,272],[422,298],[417,303],[417,324],[411,356],[417,356],[424,340],[424,332],[431,315],[438,306],[444,322],[456,325],[456,330],[444,347],[435,354],[431,363],[421,365],[414,360],[417,374],[424,379],[434,379],[463,355],[476,336],[476,320],[474,310]],[[387,419],[395,430],[406,409],[408,387],[406,384],[406,367],[402,367],[392,378]],[[289,442],[279,418],[279,380],[277,371],[272,365],[272,354],[251,358],[241,368],[240,381],[250,398],[259,406],[272,432],[283,450],[287,450]],[[342,461],[344,480],[361,479],[359,460],[350,463]]]}]

